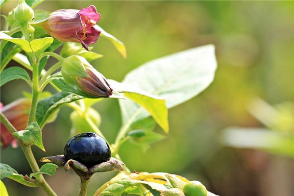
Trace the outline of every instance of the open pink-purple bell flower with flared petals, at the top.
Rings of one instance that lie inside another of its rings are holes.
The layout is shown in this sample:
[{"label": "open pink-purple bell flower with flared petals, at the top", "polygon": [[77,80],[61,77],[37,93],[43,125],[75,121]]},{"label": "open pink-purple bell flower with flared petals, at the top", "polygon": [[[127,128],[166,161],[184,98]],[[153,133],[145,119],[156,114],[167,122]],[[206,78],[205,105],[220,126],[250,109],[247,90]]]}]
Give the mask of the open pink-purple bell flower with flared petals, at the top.
[{"label": "open pink-purple bell flower with flared petals, at the top", "polygon": [[80,42],[88,50],[87,45],[97,42],[100,31],[95,26],[100,19],[94,5],[76,9],[60,9],[52,12],[49,19],[41,25],[50,36],[63,42]]}]

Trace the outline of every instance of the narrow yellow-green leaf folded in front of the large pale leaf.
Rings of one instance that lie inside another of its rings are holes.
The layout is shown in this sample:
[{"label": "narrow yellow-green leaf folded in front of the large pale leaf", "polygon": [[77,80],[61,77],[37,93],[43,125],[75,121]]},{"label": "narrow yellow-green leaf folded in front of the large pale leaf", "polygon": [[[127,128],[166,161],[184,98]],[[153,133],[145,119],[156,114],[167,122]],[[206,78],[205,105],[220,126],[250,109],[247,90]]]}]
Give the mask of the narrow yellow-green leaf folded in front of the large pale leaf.
[{"label": "narrow yellow-green leaf folded in front of the large pale leaf", "polygon": [[[119,83],[115,80],[108,81],[111,87],[117,89],[120,93],[124,93],[125,97],[144,107],[165,132],[169,131],[168,109],[164,99],[126,83]],[[127,108],[122,109],[125,109],[123,111],[125,115],[130,115],[129,118],[132,116],[132,113],[128,113]]]}]

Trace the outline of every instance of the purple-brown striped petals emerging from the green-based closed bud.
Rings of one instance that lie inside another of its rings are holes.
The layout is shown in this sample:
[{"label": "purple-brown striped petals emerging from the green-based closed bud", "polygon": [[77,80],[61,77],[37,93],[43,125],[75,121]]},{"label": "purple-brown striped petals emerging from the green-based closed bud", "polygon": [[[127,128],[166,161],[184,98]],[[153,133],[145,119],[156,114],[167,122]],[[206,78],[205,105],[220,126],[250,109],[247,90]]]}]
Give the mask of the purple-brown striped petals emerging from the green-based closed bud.
[{"label": "purple-brown striped petals emerging from the green-based closed bud", "polygon": [[112,95],[112,88],[106,78],[92,67],[86,67],[89,77],[75,77],[77,85],[82,91],[95,97],[108,98]]}]

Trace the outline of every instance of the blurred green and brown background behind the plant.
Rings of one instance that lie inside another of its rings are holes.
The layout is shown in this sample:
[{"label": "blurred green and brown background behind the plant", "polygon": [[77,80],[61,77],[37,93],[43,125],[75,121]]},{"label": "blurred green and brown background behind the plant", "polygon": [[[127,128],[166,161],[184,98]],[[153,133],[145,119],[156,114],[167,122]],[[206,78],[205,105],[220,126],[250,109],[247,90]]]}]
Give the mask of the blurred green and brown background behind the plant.
[{"label": "blurred green and brown background behind the plant", "polygon": [[[1,14],[7,15],[16,4],[9,1]],[[127,59],[123,59],[108,40],[98,39],[94,51],[104,57],[92,64],[107,78],[121,81],[148,60],[216,45],[214,82],[196,98],[169,111],[167,139],[154,143],[146,153],[130,143],[123,145],[120,154],[131,170],[180,174],[201,181],[221,196],[294,196],[293,158],[225,147],[220,142],[222,130],[228,126],[264,127],[248,112],[256,96],[270,105],[294,101],[293,1],[48,0],[36,9],[81,9],[90,4],[101,14],[98,25],[123,41],[127,49]],[[49,65],[53,63],[51,59]],[[23,81],[9,82],[1,88],[1,102],[5,105],[20,98],[24,90],[29,89]],[[121,125],[118,101],[107,99],[94,107],[102,117],[100,129],[109,143],[114,142]],[[70,137],[70,113],[71,109],[62,108],[56,122],[45,126],[46,152],[33,147],[36,159],[63,153]],[[290,123],[293,128],[293,121]],[[294,144],[292,147],[289,150],[294,150]],[[30,173],[20,148],[1,149],[1,163],[19,173]],[[95,174],[88,195],[114,175]],[[47,179],[60,196],[78,193],[79,179],[73,172],[60,168]],[[3,182],[11,196],[44,195],[40,188],[28,188],[10,179]]]}]

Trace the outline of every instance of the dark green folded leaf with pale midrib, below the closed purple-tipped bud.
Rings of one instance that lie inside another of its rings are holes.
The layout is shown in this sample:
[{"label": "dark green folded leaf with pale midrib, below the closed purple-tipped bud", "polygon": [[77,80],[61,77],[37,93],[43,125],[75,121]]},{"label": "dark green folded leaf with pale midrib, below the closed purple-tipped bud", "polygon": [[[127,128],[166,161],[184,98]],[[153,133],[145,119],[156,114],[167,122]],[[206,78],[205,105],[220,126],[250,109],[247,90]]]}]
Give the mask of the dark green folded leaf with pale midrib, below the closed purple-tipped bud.
[{"label": "dark green folded leaf with pale midrib, below the closed purple-tipped bud", "polygon": [[68,93],[68,92],[59,92],[49,98],[44,98],[38,102],[36,119],[41,127],[46,124],[50,119],[51,115],[57,110],[60,106],[65,103],[70,103],[83,97]]}]

